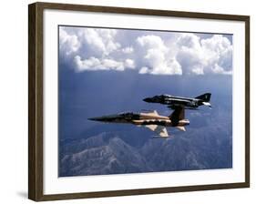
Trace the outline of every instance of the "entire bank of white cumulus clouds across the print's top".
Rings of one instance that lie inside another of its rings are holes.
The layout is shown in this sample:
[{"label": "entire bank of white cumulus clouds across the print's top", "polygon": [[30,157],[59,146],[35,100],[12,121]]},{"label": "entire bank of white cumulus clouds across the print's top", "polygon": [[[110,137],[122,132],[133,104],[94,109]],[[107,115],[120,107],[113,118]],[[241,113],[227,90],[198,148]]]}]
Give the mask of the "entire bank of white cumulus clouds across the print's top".
[{"label": "entire bank of white cumulus clouds across the print's top", "polygon": [[76,72],[133,69],[151,75],[232,73],[232,44],[226,36],[60,27],[60,60]]}]

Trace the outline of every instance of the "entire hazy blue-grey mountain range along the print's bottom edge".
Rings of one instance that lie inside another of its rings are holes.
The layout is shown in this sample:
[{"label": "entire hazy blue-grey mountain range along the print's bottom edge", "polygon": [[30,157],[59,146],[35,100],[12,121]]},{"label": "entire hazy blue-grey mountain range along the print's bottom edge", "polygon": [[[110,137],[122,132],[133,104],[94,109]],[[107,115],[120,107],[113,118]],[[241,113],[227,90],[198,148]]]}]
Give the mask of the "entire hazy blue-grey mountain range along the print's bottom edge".
[{"label": "entire hazy blue-grey mountain range along the print's bottom edge", "polygon": [[187,134],[178,133],[169,139],[148,137],[138,148],[115,132],[77,139],[65,145],[60,176],[231,168],[231,138],[223,128],[215,128],[218,135],[206,127],[207,135],[198,134],[203,128],[190,128]]}]

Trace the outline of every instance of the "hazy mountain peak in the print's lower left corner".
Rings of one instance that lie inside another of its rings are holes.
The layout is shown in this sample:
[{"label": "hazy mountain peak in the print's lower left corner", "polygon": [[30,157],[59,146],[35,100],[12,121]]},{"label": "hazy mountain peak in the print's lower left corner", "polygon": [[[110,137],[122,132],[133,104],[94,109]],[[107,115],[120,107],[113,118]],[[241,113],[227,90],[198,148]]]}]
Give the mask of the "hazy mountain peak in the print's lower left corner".
[{"label": "hazy mountain peak in the print's lower left corner", "polygon": [[[87,142],[91,143],[92,140],[98,139],[104,141],[102,135],[99,135],[87,138]],[[84,142],[85,149],[75,154],[63,154],[60,158],[60,176],[133,173],[149,170],[137,149],[130,147],[120,138],[109,138],[101,146],[90,148],[87,148],[87,142]],[[77,147],[76,143],[73,145]]]}]

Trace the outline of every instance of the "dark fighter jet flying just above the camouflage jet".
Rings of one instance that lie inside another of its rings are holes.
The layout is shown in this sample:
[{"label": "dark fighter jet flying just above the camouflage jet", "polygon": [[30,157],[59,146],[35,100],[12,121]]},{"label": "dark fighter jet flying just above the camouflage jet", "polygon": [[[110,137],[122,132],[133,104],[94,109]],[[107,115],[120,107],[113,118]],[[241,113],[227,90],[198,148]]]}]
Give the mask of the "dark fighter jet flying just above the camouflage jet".
[{"label": "dark fighter jet flying just above the camouflage jet", "polygon": [[168,105],[169,108],[185,107],[186,109],[196,109],[202,105],[210,107],[210,93],[200,95],[199,97],[175,97],[171,95],[159,95],[155,97],[146,97],[143,100],[148,103],[159,103]]}]

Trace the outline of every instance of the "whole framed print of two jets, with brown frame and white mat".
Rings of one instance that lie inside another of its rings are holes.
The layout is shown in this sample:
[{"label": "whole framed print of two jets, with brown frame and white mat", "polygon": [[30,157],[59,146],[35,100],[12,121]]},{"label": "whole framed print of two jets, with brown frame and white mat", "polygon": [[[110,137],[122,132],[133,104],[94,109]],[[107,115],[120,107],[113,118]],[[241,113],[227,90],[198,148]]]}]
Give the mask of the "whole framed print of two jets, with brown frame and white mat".
[{"label": "whole framed print of two jets, with brown frame and white mat", "polygon": [[250,186],[250,17],[29,5],[36,201]]}]

